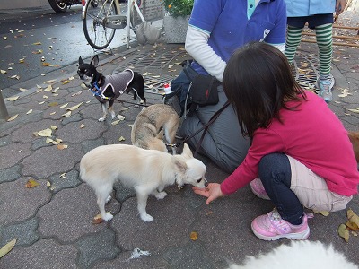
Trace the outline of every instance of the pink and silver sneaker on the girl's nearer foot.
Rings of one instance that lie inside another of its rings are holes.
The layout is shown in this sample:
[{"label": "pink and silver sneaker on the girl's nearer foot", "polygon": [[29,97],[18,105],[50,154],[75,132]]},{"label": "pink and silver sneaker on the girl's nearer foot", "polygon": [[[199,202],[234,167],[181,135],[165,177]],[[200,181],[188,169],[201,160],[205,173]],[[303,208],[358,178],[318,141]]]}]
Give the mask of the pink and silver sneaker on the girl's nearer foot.
[{"label": "pink and silver sneaker on the girl's nearer foot", "polygon": [[304,213],[302,217],[302,224],[293,225],[288,221],[282,219],[276,208],[261,215],[252,221],[252,230],[254,234],[263,240],[276,240],[276,239],[296,239],[302,240],[309,237],[308,217]]}]

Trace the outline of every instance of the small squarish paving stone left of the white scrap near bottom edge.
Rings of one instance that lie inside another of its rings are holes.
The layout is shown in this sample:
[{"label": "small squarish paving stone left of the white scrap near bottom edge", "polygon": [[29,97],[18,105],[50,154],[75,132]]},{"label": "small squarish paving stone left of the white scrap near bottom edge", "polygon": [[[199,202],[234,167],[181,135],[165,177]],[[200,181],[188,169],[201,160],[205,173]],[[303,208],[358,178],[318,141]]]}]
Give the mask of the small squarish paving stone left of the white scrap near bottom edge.
[{"label": "small squarish paving stone left of the white scrap near bottom edge", "polygon": [[121,248],[115,242],[115,233],[110,229],[89,233],[79,239],[76,246],[80,252],[80,268],[89,268],[96,261],[113,259],[121,252]]}]

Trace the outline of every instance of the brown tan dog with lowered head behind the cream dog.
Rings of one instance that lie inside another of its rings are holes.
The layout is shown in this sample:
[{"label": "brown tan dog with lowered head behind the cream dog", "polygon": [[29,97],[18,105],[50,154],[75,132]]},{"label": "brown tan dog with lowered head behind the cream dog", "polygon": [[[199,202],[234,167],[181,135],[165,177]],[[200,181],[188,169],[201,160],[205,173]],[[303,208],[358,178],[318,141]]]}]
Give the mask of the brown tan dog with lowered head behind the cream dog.
[{"label": "brown tan dog with lowered head behind the cream dog", "polygon": [[[136,117],[132,126],[131,142],[145,150],[168,152],[163,142],[163,133],[167,143],[174,144],[180,118],[173,108],[165,104],[155,104],[144,108]],[[176,148],[172,147],[176,154]]]}]

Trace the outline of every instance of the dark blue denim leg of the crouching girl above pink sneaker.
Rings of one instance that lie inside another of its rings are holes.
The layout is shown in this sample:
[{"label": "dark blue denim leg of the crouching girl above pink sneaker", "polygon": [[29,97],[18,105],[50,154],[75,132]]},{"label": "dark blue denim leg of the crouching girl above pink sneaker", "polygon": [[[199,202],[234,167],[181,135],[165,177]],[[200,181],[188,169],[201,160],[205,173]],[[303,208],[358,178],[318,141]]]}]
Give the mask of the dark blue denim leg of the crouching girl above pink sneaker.
[{"label": "dark blue denim leg of the crouching girl above pink sneaker", "polygon": [[284,153],[271,153],[259,162],[259,178],[282,219],[293,225],[302,223],[303,206],[290,189],[292,171]]}]

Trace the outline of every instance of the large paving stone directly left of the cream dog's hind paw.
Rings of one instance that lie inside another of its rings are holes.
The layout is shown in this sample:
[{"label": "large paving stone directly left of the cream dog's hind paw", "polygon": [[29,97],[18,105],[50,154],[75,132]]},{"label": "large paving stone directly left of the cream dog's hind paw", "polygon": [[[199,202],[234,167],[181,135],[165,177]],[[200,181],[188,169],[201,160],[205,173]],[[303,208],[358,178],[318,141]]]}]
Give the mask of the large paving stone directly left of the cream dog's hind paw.
[{"label": "large paving stone directly left of the cream dog's hind paw", "polygon": [[[115,202],[112,203],[116,204]],[[64,189],[39,209],[39,232],[45,237],[56,237],[65,242],[74,241],[107,226],[106,221],[92,224],[92,218],[98,213],[96,197],[89,186],[82,184]]]}]

